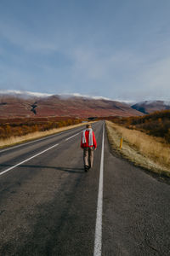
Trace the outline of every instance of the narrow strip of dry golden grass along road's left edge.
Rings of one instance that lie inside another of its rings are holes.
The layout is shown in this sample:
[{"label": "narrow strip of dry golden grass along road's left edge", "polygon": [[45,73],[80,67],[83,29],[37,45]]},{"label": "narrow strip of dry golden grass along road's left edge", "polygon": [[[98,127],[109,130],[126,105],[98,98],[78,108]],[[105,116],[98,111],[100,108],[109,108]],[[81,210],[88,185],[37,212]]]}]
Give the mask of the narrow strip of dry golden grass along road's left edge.
[{"label": "narrow strip of dry golden grass along road's left edge", "polygon": [[60,131],[71,130],[75,127],[79,127],[79,126],[86,125],[86,124],[87,123],[81,123],[81,124],[78,124],[78,125],[70,125],[70,126],[60,127],[60,128],[57,128],[57,129],[52,129],[52,130],[49,130],[49,131],[35,131],[35,132],[29,133],[25,136],[20,136],[20,137],[8,137],[7,139],[4,139],[4,140],[1,139],[0,140],[0,148],[5,148],[5,147],[12,146],[12,145],[15,145],[15,144],[31,141],[31,140],[34,140],[34,139],[37,139],[37,138],[46,137],[48,135],[52,135],[52,134],[58,133]]}]

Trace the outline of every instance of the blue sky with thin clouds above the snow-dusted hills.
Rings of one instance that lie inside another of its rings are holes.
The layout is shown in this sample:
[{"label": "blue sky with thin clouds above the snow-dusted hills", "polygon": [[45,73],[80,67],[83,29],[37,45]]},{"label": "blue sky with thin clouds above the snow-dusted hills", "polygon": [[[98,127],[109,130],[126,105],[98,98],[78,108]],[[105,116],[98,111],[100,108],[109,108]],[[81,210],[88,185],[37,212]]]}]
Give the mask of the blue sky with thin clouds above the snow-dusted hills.
[{"label": "blue sky with thin clouds above the snow-dusted hills", "polygon": [[0,90],[170,99],[169,0],[1,0]]}]

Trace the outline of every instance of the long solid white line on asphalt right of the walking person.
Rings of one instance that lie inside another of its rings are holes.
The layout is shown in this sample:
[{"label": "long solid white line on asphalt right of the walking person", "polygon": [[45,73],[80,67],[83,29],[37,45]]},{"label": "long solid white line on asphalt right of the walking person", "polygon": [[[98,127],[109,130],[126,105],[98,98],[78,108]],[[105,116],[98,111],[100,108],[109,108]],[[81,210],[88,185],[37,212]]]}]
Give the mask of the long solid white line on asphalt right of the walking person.
[{"label": "long solid white line on asphalt right of the walking person", "polygon": [[96,226],[95,226],[94,256],[100,256],[101,255],[101,249],[102,249],[104,136],[105,136],[105,125],[103,126],[101,162],[100,162],[100,172],[99,172],[99,194],[98,194],[98,207],[97,207]]}]

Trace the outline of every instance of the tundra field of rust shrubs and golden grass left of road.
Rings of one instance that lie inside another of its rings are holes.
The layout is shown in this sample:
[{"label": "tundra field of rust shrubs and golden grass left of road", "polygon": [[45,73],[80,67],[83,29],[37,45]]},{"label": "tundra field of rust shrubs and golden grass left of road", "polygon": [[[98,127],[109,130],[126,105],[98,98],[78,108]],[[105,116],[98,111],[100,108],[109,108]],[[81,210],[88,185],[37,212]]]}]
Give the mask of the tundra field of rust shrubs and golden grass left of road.
[{"label": "tundra field of rust shrubs and golden grass left of road", "polygon": [[68,117],[1,119],[0,121],[0,148],[45,137],[82,125],[82,119]]}]

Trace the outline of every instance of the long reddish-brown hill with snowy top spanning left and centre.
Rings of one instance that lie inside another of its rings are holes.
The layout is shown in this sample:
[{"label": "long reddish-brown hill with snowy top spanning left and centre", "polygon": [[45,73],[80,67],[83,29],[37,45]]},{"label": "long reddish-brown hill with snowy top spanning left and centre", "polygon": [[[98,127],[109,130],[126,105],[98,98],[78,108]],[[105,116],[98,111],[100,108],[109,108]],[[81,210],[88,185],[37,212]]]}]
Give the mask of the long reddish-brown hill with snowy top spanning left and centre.
[{"label": "long reddish-brown hill with snowy top spanning left and centre", "polygon": [[77,118],[142,115],[123,102],[83,96],[24,96],[0,94],[0,118],[71,116]]}]

